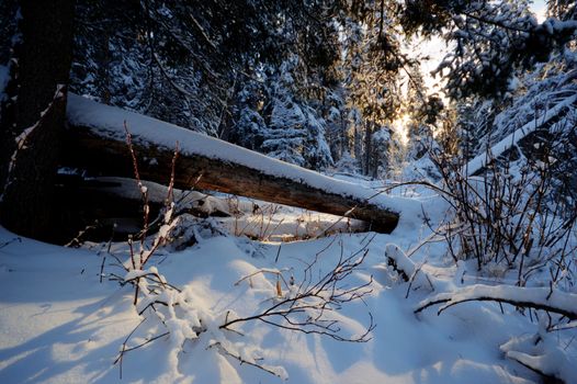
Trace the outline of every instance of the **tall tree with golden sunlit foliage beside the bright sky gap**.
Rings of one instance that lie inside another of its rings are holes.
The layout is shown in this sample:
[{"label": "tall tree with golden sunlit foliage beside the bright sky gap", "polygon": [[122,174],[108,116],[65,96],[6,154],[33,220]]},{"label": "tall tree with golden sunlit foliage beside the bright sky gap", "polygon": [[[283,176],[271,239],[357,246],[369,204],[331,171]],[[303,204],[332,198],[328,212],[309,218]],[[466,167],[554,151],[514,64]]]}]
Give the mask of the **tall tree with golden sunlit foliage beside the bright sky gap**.
[{"label": "tall tree with golden sunlit foliage beside the bright sky gap", "polygon": [[[406,64],[399,36],[393,27],[394,7],[387,4],[366,1],[358,19],[351,18],[344,25],[349,106],[362,116],[361,125],[354,127],[355,155],[362,172],[372,177],[377,176],[383,160],[386,162],[386,155],[382,154],[391,138],[386,125],[398,116],[399,75]],[[377,137],[373,137],[377,133]]]}]

